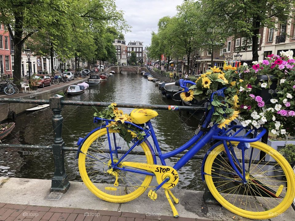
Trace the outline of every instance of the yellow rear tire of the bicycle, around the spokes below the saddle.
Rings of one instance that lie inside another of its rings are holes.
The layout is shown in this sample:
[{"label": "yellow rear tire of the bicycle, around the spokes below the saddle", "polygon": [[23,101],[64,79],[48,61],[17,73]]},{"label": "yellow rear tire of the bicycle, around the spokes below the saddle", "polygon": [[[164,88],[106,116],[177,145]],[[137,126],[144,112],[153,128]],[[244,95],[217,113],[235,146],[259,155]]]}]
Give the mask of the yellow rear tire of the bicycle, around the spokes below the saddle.
[{"label": "yellow rear tire of the bicycle, around the spokes below the saddle", "polygon": [[[109,130],[109,133],[118,133],[115,130]],[[147,189],[147,187],[149,186],[149,184],[151,183],[152,177],[153,176],[149,176],[146,175],[145,179],[143,181],[143,183],[140,185],[140,187],[138,187],[135,191],[126,194],[124,196],[114,196],[114,195],[110,195],[107,194],[105,192],[102,192],[99,188],[97,188],[89,179],[89,176],[87,174],[86,171],[86,167],[85,167],[85,158],[86,155],[83,153],[87,153],[87,150],[89,148],[89,146],[92,144],[92,142],[94,140],[96,140],[98,137],[103,136],[107,134],[107,129],[103,128],[100,130],[95,131],[94,133],[92,133],[83,143],[82,147],[81,147],[81,152],[79,154],[79,160],[78,160],[78,165],[79,165],[79,171],[80,171],[80,175],[81,178],[85,184],[85,186],[97,197],[99,197],[102,200],[108,201],[108,202],[112,202],[112,203],[124,203],[124,202],[128,202],[131,200],[136,199],[137,197],[139,197],[141,194],[144,193],[144,191]],[[133,135],[135,135],[132,132]],[[142,147],[145,156],[147,157],[147,162],[150,164],[154,164],[154,160],[151,154],[151,150],[149,149],[148,145],[146,144],[146,142],[142,142],[140,144],[140,146]]]}]

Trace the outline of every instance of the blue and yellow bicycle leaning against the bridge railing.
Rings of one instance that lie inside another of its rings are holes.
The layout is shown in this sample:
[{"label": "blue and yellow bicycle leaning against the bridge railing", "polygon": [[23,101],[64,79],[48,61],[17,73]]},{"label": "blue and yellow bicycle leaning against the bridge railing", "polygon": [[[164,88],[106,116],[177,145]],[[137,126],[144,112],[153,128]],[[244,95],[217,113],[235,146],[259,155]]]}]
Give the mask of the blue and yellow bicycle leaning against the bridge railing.
[{"label": "blue and yellow bicycle leaning against the bridge railing", "polygon": [[[180,79],[176,84],[187,91],[187,84],[195,83]],[[214,94],[224,96],[225,89],[212,93],[211,102]],[[168,153],[162,153],[150,121],[158,115],[156,111],[135,109],[131,112],[132,122],[124,123],[144,132],[144,136],[139,138],[131,132],[130,143],[118,130],[108,127],[114,120],[95,117],[94,122],[105,122],[105,125],[79,138],[77,157],[81,178],[92,193],[114,203],[134,200],[147,189],[151,200],[156,200],[157,190],[163,188],[173,215],[178,217],[173,202],[177,204],[179,200],[171,192],[179,181],[177,171],[210,144],[201,176],[223,207],[250,219],[269,219],[283,213],[295,197],[295,175],[279,152],[258,142],[266,129],[234,124],[220,129],[210,123],[212,114],[213,106],[206,111],[199,131]],[[181,152],[185,153],[175,165],[166,165],[166,159]],[[283,179],[277,179],[278,169],[284,171]]]}]

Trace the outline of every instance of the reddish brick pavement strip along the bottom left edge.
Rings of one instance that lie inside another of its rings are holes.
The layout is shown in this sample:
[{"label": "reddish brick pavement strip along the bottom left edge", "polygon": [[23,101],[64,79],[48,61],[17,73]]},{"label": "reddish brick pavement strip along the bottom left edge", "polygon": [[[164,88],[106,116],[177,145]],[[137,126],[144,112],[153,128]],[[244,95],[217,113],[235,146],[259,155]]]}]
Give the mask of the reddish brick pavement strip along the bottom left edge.
[{"label": "reddish brick pavement strip along the bottom left edge", "polygon": [[60,207],[0,203],[1,221],[205,221],[120,211],[85,210]]}]

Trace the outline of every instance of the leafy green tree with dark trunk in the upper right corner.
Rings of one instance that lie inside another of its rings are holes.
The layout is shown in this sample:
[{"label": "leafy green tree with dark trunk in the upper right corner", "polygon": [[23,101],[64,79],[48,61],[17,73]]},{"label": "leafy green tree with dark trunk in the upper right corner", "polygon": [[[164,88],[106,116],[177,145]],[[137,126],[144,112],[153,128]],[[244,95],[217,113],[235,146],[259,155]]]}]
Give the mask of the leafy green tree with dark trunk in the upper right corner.
[{"label": "leafy green tree with dark trunk in the upper right corner", "polygon": [[[253,60],[258,60],[259,29],[263,27],[275,28],[282,21],[293,16],[293,0],[203,0],[211,8],[212,15],[218,16],[220,21],[231,24],[229,32],[236,37],[252,39]],[[246,43],[247,44],[247,43]]]}]

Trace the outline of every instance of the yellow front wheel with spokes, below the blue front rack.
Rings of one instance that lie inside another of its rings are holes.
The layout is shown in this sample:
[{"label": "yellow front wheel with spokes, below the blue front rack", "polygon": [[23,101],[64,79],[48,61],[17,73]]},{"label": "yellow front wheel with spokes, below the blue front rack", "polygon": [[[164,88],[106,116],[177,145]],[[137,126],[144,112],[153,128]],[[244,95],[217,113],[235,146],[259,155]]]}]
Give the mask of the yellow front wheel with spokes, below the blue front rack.
[{"label": "yellow front wheel with spokes, below the blue front rack", "polygon": [[[242,151],[232,142],[231,156],[242,173]],[[205,161],[205,179],[215,199],[231,212],[250,219],[269,219],[289,208],[295,197],[295,176],[286,159],[262,142],[250,143],[243,154],[247,182],[227,160],[218,145]],[[280,168],[284,174],[278,174]]]}]

